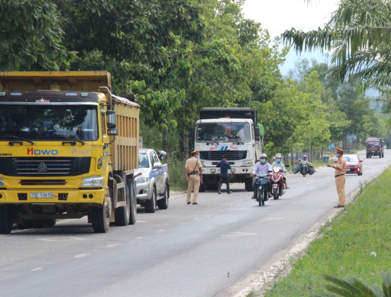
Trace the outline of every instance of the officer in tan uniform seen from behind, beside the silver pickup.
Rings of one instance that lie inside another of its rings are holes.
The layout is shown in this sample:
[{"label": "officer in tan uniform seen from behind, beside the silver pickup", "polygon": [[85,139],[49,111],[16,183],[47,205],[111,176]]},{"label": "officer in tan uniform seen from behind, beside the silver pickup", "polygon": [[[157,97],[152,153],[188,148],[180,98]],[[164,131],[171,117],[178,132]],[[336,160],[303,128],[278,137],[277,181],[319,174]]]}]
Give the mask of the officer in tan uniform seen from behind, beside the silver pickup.
[{"label": "officer in tan uniform seen from behind, beside the silver pickup", "polygon": [[189,187],[187,188],[187,204],[190,204],[190,198],[192,196],[192,189],[194,185],[193,204],[197,203],[198,190],[200,181],[202,181],[201,162],[198,160],[199,151],[192,152],[192,158],[186,161],[185,174],[186,179],[189,181]]}]

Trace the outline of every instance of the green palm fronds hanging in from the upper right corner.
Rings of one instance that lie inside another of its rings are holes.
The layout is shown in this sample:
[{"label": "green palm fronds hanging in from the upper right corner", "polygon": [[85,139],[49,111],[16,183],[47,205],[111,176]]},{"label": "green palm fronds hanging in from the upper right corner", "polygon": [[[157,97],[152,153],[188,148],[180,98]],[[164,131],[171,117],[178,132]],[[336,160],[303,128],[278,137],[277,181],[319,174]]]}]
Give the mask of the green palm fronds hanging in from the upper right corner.
[{"label": "green palm fronds hanging in from the upper right corner", "polygon": [[292,28],[282,41],[296,52],[328,52],[330,74],[341,81],[364,81],[364,89],[391,84],[391,0],[341,0],[324,28]]}]

